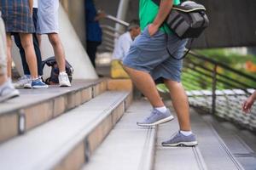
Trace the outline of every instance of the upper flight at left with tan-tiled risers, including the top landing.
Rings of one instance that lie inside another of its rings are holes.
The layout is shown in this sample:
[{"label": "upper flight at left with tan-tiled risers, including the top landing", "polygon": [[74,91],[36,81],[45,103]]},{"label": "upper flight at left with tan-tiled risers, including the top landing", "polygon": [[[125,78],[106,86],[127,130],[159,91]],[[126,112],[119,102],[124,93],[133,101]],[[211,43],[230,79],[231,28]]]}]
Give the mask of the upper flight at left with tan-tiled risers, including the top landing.
[{"label": "upper flight at left with tan-tiled risers, including the top landing", "polygon": [[20,90],[1,104],[0,169],[79,169],[131,104],[131,90],[113,84]]}]

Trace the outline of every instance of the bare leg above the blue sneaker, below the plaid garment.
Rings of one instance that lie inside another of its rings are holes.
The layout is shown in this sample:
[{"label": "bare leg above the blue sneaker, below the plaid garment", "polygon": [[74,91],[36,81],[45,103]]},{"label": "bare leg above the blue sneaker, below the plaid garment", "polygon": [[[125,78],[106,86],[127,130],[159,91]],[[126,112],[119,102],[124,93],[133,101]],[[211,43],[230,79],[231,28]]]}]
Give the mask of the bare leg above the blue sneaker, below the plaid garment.
[{"label": "bare leg above the blue sneaker, below the plaid garment", "polygon": [[32,42],[32,34],[20,33],[20,41],[26,54],[26,63],[29,67],[32,79],[38,78],[37,57]]}]

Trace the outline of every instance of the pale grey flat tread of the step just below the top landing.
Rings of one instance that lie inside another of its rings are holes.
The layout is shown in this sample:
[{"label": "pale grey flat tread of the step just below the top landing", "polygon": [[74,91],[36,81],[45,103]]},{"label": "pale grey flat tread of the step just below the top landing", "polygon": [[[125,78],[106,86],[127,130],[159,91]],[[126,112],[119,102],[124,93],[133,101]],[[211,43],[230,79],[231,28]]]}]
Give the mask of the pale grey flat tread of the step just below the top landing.
[{"label": "pale grey flat tread of the step just below the top landing", "polygon": [[[127,92],[106,92],[43,126],[1,144],[0,169],[54,168],[77,144],[83,144],[84,138],[101,125],[103,120],[108,120],[112,111],[127,95]],[[108,126],[113,125],[105,125]],[[99,129],[105,130],[102,127]],[[102,138],[102,134],[100,132],[98,138]],[[90,139],[93,142],[98,138]]]}]

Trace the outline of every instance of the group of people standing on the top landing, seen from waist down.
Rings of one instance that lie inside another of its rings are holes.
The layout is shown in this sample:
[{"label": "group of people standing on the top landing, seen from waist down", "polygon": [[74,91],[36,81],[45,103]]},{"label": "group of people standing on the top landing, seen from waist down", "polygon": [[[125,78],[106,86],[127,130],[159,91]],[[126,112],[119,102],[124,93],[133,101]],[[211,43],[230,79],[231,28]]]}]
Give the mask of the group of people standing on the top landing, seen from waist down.
[{"label": "group of people standing on the top landing, seen from waist down", "polygon": [[[59,67],[59,84],[61,87],[71,86],[66,73],[66,59],[64,49],[61,44],[61,39],[58,35],[58,8],[59,1],[47,0],[38,1],[38,6],[32,9],[30,1],[17,0],[17,1],[1,1],[0,11],[2,12],[2,58],[6,62],[6,71],[3,71],[6,76],[1,76],[0,82],[0,98],[9,99],[7,94],[15,92],[15,96],[19,95],[16,93],[17,90],[11,83],[11,68],[12,68],[12,56],[11,51],[13,48],[12,36],[15,37],[15,42],[18,48],[20,48],[20,56],[22,60],[24,74],[26,81],[23,84],[18,85],[19,88],[48,88],[41,77],[43,76],[42,58],[40,52],[40,39],[36,34],[46,34],[51,43],[55,60]],[[49,8],[50,7],[50,8]],[[5,31],[4,31],[5,29]],[[3,38],[4,37],[4,38]],[[34,46],[35,44],[35,46]],[[2,63],[2,62],[1,62]],[[3,74],[1,74],[3,75]],[[2,78],[5,77],[5,78]],[[2,81],[4,79],[5,81]],[[26,86],[25,86],[26,85]],[[4,96],[4,97],[3,97]],[[13,97],[15,97],[13,96]],[[12,96],[11,96],[12,97]]]}]

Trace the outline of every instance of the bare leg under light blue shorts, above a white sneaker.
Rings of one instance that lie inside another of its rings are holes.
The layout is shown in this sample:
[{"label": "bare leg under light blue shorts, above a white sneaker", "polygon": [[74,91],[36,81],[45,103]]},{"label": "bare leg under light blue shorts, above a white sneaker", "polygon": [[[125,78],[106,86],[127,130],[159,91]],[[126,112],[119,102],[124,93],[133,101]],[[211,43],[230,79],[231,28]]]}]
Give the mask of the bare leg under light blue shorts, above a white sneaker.
[{"label": "bare leg under light blue shorts, above a white sneaker", "polygon": [[59,66],[60,72],[66,71],[65,69],[65,54],[64,49],[61,44],[61,38],[56,33],[48,34],[49,42],[51,43],[52,47],[54,48],[55,52],[55,59]]}]

